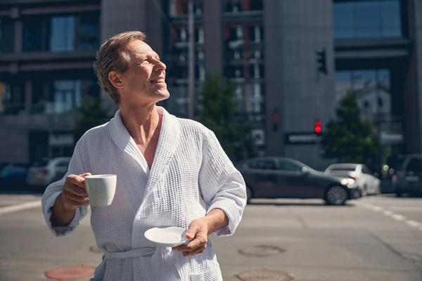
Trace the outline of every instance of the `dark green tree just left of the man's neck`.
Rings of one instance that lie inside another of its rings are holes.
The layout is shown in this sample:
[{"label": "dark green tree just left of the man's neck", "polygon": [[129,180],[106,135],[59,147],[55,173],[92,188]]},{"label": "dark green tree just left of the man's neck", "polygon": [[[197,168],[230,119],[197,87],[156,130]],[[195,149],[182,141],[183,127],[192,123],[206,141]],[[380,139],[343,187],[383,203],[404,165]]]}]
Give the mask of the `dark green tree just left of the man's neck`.
[{"label": "dark green tree just left of the man's neck", "polygon": [[75,127],[75,138],[77,140],[89,129],[110,120],[101,98],[85,98],[77,113]]}]

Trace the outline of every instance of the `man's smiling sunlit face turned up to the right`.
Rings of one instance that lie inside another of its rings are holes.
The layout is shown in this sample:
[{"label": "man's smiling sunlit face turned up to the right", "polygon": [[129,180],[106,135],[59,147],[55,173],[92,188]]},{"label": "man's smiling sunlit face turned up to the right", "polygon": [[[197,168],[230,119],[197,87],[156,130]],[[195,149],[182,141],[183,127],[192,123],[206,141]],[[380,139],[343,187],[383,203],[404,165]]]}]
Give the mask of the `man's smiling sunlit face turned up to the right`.
[{"label": "man's smiling sunlit face turned up to the right", "polygon": [[165,83],[166,66],[143,41],[134,40],[123,48],[130,55],[129,68],[120,74],[120,103],[150,105],[170,96]]}]

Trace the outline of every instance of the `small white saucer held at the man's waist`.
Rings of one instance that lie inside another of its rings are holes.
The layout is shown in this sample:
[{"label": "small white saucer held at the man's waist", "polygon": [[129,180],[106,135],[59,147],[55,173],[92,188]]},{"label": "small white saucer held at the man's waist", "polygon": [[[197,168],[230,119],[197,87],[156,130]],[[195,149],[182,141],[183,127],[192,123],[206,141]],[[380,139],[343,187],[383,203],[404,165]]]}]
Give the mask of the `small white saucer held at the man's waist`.
[{"label": "small white saucer held at the man's waist", "polygon": [[143,234],[146,239],[161,247],[177,247],[189,242],[185,237],[186,229],[175,226],[150,228]]}]

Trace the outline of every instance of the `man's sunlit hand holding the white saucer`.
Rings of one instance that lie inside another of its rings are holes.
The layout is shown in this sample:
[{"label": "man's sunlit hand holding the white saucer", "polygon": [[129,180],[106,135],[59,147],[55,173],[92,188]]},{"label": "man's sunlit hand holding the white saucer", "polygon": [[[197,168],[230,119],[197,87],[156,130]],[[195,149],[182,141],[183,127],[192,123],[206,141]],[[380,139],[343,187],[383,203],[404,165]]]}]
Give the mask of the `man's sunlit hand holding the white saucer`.
[{"label": "man's sunlit hand holding the white saucer", "polygon": [[202,253],[207,247],[208,242],[207,218],[193,220],[186,232],[186,238],[191,240],[191,242],[173,249],[181,251],[184,256],[193,256]]}]

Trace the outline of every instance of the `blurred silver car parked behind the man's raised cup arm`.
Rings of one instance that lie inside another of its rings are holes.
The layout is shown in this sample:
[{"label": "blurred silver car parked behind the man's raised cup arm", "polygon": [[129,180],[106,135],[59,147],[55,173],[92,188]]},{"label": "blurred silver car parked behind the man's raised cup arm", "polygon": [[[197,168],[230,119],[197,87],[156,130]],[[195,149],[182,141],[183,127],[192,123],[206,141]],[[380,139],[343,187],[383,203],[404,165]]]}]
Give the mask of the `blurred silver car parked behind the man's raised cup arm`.
[{"label": "blurred silver car parked behind the man's raised cup arm", "polygon": [[27,174],[27,184],[46,188],[50,183],[59,181],[68,172],[70,157],[41,159],[34,162]]}]

